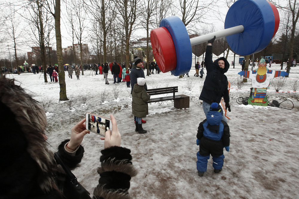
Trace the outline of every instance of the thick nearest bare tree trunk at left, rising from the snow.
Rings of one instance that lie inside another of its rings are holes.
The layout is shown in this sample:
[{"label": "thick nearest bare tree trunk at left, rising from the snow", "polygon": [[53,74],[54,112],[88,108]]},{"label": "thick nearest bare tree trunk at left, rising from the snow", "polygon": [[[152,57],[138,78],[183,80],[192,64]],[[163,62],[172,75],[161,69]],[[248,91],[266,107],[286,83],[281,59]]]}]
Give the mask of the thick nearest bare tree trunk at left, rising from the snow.
[{"label": "thick nearest bare tree trunk at left, rising from the snow", "polygon": [[55,0],[55,34],[56,34],[56,50],[57,50],[57,61],[58,61],[58,77],[59,77],[59,100],[66,101],[66,85],[65,85],[65,73],[63,68],[63,57],[62,57],[62,44],[61,44],[61,31],[60,31],[60,0]]}]

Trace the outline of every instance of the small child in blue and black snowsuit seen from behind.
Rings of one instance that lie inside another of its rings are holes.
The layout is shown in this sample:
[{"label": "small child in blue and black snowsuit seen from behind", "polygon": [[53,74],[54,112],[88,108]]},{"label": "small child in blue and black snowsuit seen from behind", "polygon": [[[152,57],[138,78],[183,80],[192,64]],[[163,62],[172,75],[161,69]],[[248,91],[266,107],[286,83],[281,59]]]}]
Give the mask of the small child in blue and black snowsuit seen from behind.
[{"label": "small child in blue and black snowsuit seen from behind", "polygon": [[196,144],[199,145],[197,152],[196,167],[199,176],[203,176],[207,171],[210,154],[213,157],[214,172],[219,173],[223,166],[223,147],[229,151],[229,127],[222,120],[222,108],[214,102],[211,104],[207,119],[199,124]]}]

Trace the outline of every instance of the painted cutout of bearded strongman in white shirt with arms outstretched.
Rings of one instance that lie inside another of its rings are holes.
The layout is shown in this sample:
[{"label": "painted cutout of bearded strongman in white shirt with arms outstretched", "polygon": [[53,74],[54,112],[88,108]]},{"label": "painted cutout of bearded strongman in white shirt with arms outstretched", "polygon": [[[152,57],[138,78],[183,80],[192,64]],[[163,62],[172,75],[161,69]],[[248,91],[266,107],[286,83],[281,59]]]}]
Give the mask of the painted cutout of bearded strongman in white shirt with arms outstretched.
[{"label": "painted cutout of bearded strongman in white shirt with arms outstretched", "polygon": [[285,71],[272,71],[266,67],[267,63],[265,59],[260,60],[257,71],[241,71],[238,74],[240,76],[248,77],[251,79],[252,90],[251,96],[248,99],[248,104],[267,106],[268,100],[266,97],[267,88],[269,88],[270,79],[278,76],[288,75]]}]

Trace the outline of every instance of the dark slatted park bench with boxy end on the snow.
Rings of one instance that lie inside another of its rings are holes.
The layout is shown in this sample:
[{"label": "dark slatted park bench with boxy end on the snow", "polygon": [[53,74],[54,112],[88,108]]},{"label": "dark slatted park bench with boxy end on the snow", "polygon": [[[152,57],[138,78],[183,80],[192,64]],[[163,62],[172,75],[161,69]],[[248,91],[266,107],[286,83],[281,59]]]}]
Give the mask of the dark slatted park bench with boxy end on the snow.
[{"label": "dark slatted park bench with boxy end on the snow", "polygon": [[[174,107],[175,108],[189,108],[190,97],[184,94],[176,95],[178,92],[178,87],[166,87],[166,88],[154,88],[154,89],[147,89],[147,93],[151,96],[151,99],[147,101],[147,114],[148,114],[148,103],[151,102],[161,102],[166,100],[174,100]],[[153,95],[161,95],[161,94],[168,94],[172,93],[171,96],[166,97],[157,97],[152,98]]]}]

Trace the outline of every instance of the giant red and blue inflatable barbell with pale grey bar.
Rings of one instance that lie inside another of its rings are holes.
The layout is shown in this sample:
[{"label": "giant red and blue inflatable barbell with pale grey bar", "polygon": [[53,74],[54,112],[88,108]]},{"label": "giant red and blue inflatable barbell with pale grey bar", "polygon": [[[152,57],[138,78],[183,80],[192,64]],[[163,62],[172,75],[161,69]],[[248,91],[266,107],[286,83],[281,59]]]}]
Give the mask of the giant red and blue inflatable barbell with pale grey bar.
[{"label": "giant red and blue inflatable barbell with pale grey bar", "polygon": [[237,0],[228,10],[224,30],[189,38],[184,23],[176,16],[164,18],[150,33],[152,51],[163,73],[175,76],[190,71],[191,46],[214,36],[226,36],[230,48],[239,55],[260,52],[271,41],[279,26],[277,8],[266,0]]}]

